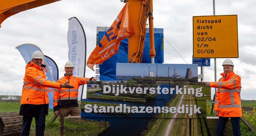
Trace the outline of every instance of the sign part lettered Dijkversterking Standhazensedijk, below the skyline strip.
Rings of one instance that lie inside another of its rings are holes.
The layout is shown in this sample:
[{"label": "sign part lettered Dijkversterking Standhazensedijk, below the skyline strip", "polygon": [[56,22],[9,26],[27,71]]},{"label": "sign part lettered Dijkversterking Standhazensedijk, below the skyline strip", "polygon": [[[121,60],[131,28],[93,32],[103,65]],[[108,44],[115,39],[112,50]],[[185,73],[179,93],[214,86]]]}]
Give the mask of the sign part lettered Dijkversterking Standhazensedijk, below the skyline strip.
[{"label": "sign part lettered Dijkversterking Standhazensedijk, below the skyline strip", "polygon": [[[200,129],[196,124],[206,118],[209,99],[210,87],[200,82],[89,81],[87,99],[81,102],[81,117],[109,122],[111,127],[102,135],[143,135],[145,130],[154,133],[159,129],[151,125],[165,130],[153,135],[176,135],[179,124],[187,125],[184,122],[189,119],[193,120],[192,129]],[[171,128],[167,129],[169,124]],[[131,127],[136,130],[130,131]]]}]

